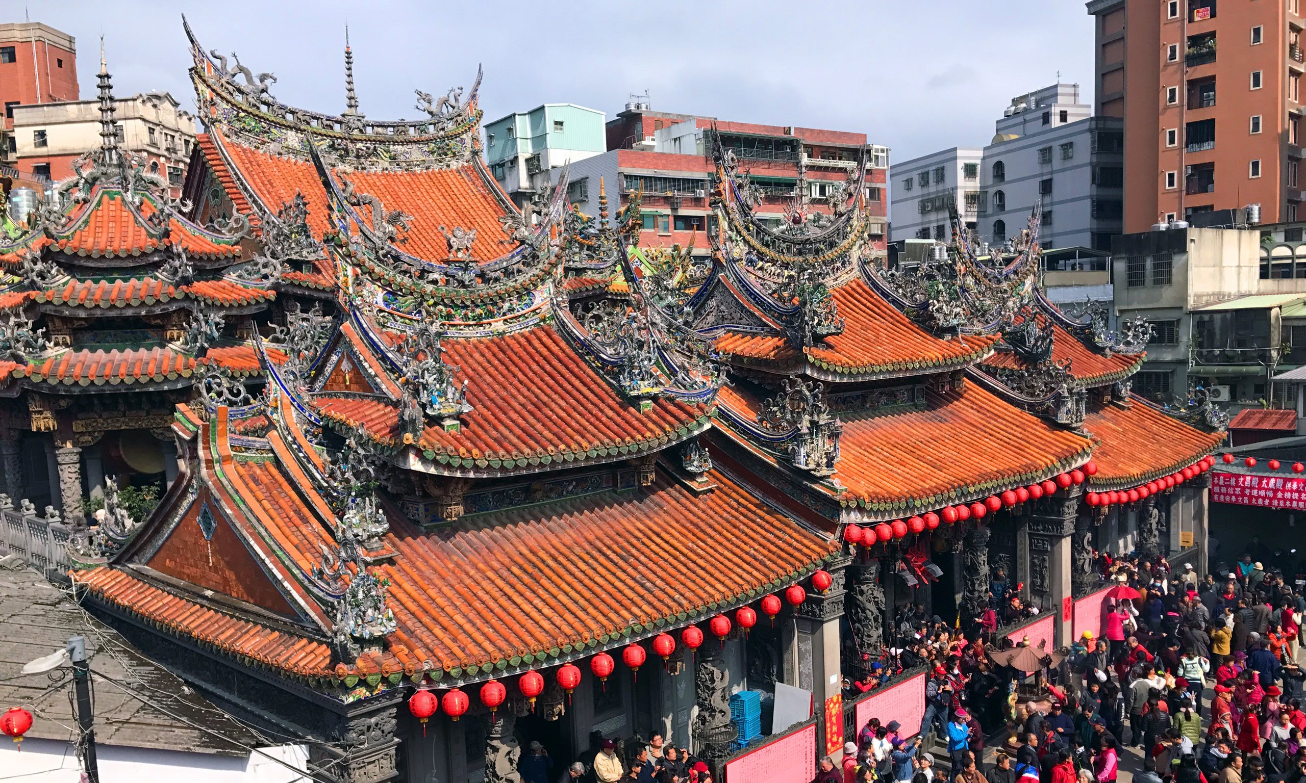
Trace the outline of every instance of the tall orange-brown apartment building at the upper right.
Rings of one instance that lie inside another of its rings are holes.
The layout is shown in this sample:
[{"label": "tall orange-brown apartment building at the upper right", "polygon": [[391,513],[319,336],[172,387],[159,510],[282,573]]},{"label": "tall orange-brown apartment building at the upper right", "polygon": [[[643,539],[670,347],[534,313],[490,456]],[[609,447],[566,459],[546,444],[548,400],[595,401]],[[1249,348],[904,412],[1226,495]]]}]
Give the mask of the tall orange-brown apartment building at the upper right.
[{"label": "tall orange-brown apartment building at the upper right", "polygon": [[1302,201],[1301,0],[1093,0],[1098,106],[1124,120],[1124,230]]}]

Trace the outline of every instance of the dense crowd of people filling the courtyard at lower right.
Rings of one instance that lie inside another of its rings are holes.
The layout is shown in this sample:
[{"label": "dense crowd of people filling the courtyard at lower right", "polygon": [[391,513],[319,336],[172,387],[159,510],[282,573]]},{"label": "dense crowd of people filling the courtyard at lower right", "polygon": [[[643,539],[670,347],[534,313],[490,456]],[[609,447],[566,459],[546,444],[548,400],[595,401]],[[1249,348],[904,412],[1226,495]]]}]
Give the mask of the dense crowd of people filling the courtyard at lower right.
[{"label": "dense crowd of people filling the courtyard at lower right", "polygon": [[855,697],[925,664],[925,719],[904,731],[872,718],[842,758],[820,760],[816,783],[1113,783],[1126,748],[1141,752],[1140,783],[1306,783],[1301,586],[1250,555],[1202,579],[1164,557],[1104,553],[1097,568],[1122,594],[1104,638],[1085,632],[1034,681],[990,655],[998,624],[1030,612],[1000,572],[964,634],[912,607],[897,647],[845,688]]}]

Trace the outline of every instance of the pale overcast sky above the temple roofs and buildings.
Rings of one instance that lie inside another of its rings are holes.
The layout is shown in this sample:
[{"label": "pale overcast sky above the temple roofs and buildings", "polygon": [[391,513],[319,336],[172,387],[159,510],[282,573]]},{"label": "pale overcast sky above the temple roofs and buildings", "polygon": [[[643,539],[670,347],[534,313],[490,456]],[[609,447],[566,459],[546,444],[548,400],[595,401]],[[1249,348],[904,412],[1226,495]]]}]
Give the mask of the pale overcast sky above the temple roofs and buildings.
[{"label": "pale overcast sky above the temple roofs and buildings", "polygon": [[[4,3],[21,20],[17,0]],[[115,93],[168,90],[193,107],[182,13],[200,42],[277,76],[279,100],[345,108],[349,25],[363,112],[415,119],[414,87],[470,86],[486,120],[571,102],[611,119],[654,110],[866,132],[893,161],[983,145],[1012,95],[1062,81],[1092,98],[1093,23],[1080,0],[34,0],[77,39],[94,97],[104,35]],[[8,14],[7,14],[8,16]],[[4,21],[10,21],[9,18]]]}]

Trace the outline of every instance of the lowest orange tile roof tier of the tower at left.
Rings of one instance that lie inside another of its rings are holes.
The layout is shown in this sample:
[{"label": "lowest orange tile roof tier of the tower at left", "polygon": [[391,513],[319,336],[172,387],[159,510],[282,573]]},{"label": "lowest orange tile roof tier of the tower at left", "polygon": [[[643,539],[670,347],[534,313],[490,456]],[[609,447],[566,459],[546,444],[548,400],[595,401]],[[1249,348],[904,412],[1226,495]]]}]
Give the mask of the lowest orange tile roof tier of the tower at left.
[{"label": "lowest orange tile roof tier of the tower at left", "polygon": [[16,372],[18,377],[47,384],[128,385],[191,377],[195,358],[171,348],[64,351],[40,364],[29,363]]}]

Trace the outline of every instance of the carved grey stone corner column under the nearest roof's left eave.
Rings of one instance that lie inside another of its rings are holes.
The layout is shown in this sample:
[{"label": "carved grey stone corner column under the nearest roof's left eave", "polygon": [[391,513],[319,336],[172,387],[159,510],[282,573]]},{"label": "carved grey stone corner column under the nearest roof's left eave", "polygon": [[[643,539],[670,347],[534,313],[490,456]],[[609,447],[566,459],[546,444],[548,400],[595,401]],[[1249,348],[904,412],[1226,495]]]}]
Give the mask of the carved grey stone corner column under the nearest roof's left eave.
[{"label": "carved grey stone corner column under the nearest roof's left eave", "polygon": [[383,783],[398,774],[396,750],[398,739],[398,703],[379,710],[342,715],[333,731],[333,744],[311,744],[310,769],[324,769],[317,775],[340,783]]}]

